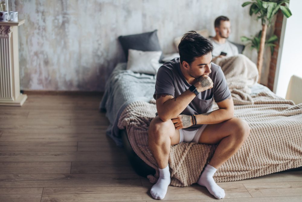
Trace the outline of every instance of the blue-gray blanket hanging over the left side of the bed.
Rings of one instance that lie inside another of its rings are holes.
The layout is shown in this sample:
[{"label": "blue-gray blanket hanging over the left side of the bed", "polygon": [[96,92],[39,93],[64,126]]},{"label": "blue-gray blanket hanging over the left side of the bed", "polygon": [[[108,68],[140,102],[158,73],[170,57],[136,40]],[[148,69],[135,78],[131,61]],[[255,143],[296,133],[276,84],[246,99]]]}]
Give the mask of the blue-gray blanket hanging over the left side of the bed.
[{"label": "blue-gray blanket hanging over the left side of the bed", "polygon": [[117,146],[122,146],[117,122],[124,108],[135,101],[150,101],[155,91],[156,76],[134,73],[126,70],[126,66],[127,63],[119,63],[114,68],[99,106],[110,122],[106,134]]}]

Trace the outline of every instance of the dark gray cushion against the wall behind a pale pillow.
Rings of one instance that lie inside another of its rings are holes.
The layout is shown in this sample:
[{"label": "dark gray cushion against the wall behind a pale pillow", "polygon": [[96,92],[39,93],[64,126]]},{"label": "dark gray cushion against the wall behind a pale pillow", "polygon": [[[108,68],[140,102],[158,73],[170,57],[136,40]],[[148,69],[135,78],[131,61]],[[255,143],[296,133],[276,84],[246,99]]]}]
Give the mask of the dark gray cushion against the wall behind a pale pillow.
[{"label": "dark gray cushion against the wall behind a pale pillow", "polygon": [[[161,51],[158,37],[157,29],[151,32],[145,32],[135,35],[119,36],[118,40],[122,45],[124,50],[126,60],[128,60],[128,50],[134,49],[139,51]],[[159,61],[161,61],[163,55],[160,56]]]}]

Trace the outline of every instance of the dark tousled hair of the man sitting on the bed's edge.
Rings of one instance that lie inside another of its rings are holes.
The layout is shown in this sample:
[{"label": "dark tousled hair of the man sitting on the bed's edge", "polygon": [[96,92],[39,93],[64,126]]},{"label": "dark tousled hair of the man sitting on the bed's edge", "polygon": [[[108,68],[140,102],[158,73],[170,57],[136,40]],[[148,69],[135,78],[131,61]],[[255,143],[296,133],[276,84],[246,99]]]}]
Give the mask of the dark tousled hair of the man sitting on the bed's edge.
[{"label": "dark tousled hair of the man sitting on the bed's edge", "polygon": [[180,62],[186,61],[191,65],[195,57],[201,57],[213,51],[212,43],[197,34],[196,31],[189,31],[182,36],[178,45]]}]

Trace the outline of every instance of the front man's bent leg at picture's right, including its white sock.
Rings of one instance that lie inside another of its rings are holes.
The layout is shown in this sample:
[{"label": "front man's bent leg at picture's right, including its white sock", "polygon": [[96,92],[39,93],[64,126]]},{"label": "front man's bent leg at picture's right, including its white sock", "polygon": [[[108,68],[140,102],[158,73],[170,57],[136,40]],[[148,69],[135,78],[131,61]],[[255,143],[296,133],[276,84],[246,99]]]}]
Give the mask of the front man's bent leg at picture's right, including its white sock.
[{"label": "front man's bent leg at picture's right, including its white sock", "polygon": [[217,169],[233,156],[249,136],[249,125],[239,118],[232,118],[219,124],[207,125],[198,143],[217,144],[209,164],[204,168],[198,179],[198,184],[207,187],[207,190],[216,198],[224,198],[224,190],[219,187],[213,176]]}]

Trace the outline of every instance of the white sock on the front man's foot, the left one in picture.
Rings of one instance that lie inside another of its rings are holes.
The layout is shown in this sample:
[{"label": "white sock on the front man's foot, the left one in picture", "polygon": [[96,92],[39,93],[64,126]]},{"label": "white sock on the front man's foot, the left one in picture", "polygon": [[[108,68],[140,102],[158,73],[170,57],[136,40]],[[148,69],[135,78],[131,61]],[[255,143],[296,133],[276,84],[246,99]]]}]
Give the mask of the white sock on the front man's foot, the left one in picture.
[{"label": "white sock on the front man's foot, the left one in picture", "polygon": [[163,199],[167,193],[170,183],[171,178],[168,164],[168,166],[163,169],[159,168],[159,178],[150,191],[152,197],[155,199]]}]

